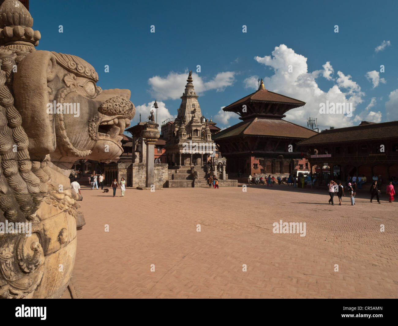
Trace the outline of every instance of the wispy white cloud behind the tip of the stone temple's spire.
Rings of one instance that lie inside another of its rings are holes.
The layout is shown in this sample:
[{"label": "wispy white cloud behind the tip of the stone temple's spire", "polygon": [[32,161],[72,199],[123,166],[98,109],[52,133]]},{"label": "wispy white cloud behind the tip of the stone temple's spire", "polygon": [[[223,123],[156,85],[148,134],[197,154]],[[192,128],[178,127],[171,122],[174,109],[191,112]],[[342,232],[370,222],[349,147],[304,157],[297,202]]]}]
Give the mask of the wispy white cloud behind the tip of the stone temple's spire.
[{"label": "wispy white cloud behind the tip of the stone temple's spire", "polygon": [[[235,73],[233,71],[225,71],[218,73],[213,79],[205,81],[196,73],[192,74],[193,86],[197,94],[203,93],[207,90],[217,90],[222,92],[226,87],[231,86],[234,81]],[[188,72],[174,73],[170,72],[166,77],[154,76],[148,79],[148,84],[151,86],[150,94],[154,98],[160,100],[176,100],[184,92],[187,84]]]}]

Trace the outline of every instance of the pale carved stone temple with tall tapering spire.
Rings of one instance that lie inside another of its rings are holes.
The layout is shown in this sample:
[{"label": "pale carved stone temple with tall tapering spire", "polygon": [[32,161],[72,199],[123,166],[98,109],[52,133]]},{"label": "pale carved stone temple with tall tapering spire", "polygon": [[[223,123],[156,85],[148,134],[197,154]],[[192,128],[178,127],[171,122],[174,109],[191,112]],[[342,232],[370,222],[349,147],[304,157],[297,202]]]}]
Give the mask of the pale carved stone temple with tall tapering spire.
[{"label": "pale carved stone temple with tall tapering spire", "polygon": [[[209,152],[215,148],[215,143],[211,139],[215,123],[208,123],[202,115],[198,97],[192,83],[192,71],[189,71],[187,84],[181,96],[181,105],[174,122],[169,121],[162,125],[162,136],[166,139],[167,162],[174,162],[177,166],[204,166],[207,162]],[[218,128],[218,127],[216,127]],[[198,144],[200,148],[209,148],[208,151],[193,153],[186,151],[187,144]],[[207,144],[203,145],[202,144]],[[214,145],[214,146],[213,146]]]}]

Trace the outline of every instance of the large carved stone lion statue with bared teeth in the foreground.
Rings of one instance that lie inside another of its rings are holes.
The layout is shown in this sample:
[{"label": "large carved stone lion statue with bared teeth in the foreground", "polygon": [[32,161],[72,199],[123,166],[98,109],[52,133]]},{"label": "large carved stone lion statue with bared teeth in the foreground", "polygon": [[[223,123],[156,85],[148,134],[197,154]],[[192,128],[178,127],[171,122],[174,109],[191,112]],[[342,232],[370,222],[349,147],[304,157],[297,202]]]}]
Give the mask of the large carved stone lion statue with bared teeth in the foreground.
[{"label": "large carved stone lion statue with bared teeth in the foreground", "polygon": [[[37,51],[39,31],[18,0],[0,6],[0,298],[59,298],[85,224],[70,189],[77,159],[110,161],[135,114],[130,91],[102,90],[74,55]],[[27,232],[28,226],[31,225]]]}]

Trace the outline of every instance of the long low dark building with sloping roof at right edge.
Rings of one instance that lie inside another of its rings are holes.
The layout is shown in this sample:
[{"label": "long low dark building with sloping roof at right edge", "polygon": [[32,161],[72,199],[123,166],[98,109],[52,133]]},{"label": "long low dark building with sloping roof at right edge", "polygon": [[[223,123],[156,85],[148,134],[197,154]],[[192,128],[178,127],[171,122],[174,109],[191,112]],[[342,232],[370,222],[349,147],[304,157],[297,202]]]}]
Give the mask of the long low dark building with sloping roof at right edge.
[{"label": "long low dark building with sloping roof at right edge", "polygon": [[365,175],[368,184],[374,175],[380,175],[384,185],[391,177],[398,177],[398,121],[363,121],[359,126],[324,130],[298,146],[322,175],[321,184],[328,177],[325,169],[333,171],[335,180]]}]

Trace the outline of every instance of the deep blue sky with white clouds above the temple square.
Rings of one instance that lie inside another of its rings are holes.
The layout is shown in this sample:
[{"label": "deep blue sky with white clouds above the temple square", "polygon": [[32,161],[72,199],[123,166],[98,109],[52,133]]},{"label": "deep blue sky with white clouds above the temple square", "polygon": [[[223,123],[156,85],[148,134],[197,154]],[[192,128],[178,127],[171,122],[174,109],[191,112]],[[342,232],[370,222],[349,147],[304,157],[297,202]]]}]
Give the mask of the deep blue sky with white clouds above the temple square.
[{"label": "deep blue sky with white clouds above the temple square", "polygon": [[[155,98],[158,122],[176,116],[192,70],[202,114],[220,128],[240,121],[221,108],[254,92],[258,77],[268,90],[306,102],[287,120],[306,126],[314,116],[321,128],[338,128],[398,120],[397,7],[394,1],[40,0],[29,11],[41,33],[37,49],[78,55],[96,68],[101,88],[131,90],[133,123],[139,113],[148,116]],[[352,103],[352,117],[320,114],[326,100]]]}]

